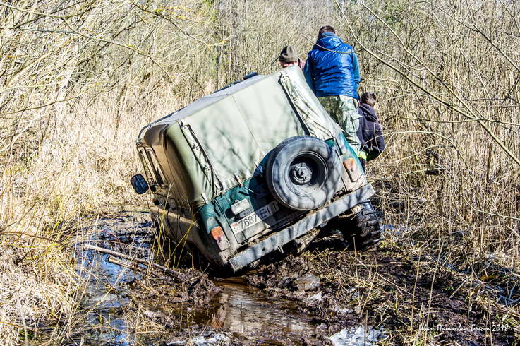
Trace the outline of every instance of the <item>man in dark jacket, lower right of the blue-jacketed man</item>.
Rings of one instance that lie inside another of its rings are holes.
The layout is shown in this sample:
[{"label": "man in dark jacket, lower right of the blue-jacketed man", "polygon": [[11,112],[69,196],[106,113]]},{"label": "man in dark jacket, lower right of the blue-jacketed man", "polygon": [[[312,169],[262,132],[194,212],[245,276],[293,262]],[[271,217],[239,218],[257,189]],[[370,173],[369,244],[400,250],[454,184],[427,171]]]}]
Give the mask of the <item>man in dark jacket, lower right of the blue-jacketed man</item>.
[{"label": "man in dark jacket, lower right of the blue-jacketed man", "polygon": [[361,115],[358,129],[358,138],[361,143],[359,160],[363,169],[365,169],[366,161],[375,159],[385,150],[381,124],[374,110],[376,101],[377,97],[374,93],[364,93],[361,95],[361,105],[358,108],[358,113]]}]

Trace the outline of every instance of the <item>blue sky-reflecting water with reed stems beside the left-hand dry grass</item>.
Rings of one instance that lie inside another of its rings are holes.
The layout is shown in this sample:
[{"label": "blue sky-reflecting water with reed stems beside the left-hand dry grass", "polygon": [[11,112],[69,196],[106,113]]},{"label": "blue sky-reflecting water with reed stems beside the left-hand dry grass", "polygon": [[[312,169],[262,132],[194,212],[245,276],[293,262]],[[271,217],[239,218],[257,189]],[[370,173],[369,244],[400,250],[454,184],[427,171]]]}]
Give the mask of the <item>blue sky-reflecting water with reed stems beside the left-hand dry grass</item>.
[{"label": "blue sky-reflecting water with reed stems beside the left-hand dry grass", "polygon": [[111,256],[106,253],[85,249],[83,245],[93,244],[129,256],[150,258],[152,223],[139,216],[139,213],[122,213],[96,220],[92,227],[78,231],[75,241],[76,268],[85,285],[82,307],[88,311],[85,321],[79,323],[78,328],[82,330],[81,338],[87,342],[135,343],[124,318],[124,311],[130,302],[126,284],[144,278],[143,266],[138,266],[141,270],[120,266],[112,263]]}]

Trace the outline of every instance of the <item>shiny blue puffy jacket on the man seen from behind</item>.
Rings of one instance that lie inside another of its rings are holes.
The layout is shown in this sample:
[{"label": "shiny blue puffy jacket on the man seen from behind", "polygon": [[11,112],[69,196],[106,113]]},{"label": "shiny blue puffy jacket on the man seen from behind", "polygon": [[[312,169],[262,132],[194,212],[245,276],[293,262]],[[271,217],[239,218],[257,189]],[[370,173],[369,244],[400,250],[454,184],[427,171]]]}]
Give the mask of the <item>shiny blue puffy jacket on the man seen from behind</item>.
[{"label": "shiny blue puffy jacket on the man seen from behind", "polygon": [[346,95],[358,99],[358,56],[332,32],[320,35],[303,68],[316,96]]}]

